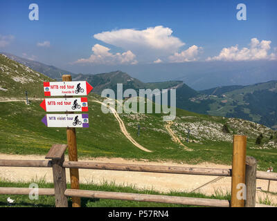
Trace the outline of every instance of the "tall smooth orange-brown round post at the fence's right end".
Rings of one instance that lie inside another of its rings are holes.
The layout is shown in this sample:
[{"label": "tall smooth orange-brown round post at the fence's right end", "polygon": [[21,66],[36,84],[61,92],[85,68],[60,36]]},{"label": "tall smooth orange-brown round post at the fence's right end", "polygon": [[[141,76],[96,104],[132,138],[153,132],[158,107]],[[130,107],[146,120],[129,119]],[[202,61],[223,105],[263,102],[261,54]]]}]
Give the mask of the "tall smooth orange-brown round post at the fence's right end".
[{"label": "tall smooth orange-brown round post at the fence's right end", "polygon": [[244,207],[246,152],[247,136],[233,135],[231,207]]}]

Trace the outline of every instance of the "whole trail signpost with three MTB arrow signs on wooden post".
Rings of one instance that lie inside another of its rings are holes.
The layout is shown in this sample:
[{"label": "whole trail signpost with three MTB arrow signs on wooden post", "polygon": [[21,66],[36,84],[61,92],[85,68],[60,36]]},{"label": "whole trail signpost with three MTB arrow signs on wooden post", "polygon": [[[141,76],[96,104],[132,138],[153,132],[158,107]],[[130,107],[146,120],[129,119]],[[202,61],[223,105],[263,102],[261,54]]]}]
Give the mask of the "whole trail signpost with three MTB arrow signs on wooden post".
[{"label": "whole trail signpost with three MTB arrow signs on wooden post", "polygon": [[[71,75],[62,75],[61,82],[44,82],[45,96],[64,96],[63,98],[46,98],[40,104],[47,112],[65,112],[64,114],[46,114],[42,122],[47,127],[66,127],[69,161],[78,161],[75,127],[88,128],[89,115],[75,114],[73,111],[89,111],[87,97],[93,87],[87,81],[71,81]],[[79,171],[71,168],[71,189],[79,189]],[[72,206],[80,207],[81,199],[72,197]]]}]

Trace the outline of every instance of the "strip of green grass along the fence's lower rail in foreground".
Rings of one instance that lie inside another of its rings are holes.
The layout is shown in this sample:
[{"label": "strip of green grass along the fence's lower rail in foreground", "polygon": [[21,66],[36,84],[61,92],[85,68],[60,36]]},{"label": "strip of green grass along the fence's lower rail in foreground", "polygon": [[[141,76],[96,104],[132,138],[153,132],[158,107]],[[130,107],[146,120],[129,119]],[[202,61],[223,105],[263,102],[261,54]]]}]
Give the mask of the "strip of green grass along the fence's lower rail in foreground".
[{"label": "strip of green grass along the fence's lower rail in foreground", "polygon": [[[30,183],[38,184],[39,188],[53,188],[52,183],[46,183],[44,180],[33,180],[30,182],[9,182],[8,180],[0,180],[1,187],[28,187]],[[67,188],[70,188],[67,184]],[[80,184],[80,189],[93,190],[93,191],[112,191],[112,192],[124,192],[124,193],[142,193],[142,194],[154,194],[154,195],[174,195],[190,198],[211,198],[219,200],[230,200],[231,195],[229,193],[222,194],[221,191],[216,191],[214,195],[206,196],[201,193],[185,193],[175,192],[159,193],[153,190],[139,190],[136,186],[118,186],[114,183],[103,182],[102,184]],[[14,203],[8,204],[7,198],[10,197],[15,200]],[[53,196],[39,195],[39,200],[30,200],[28,195],[0,195],[0,207],[53,207],[55,206],[55,198]],[[71,199],[69,198],[69,206],[71,206]],[[106,200],[106,199],[91,199],[82,198],[82,207],[193,207],[190,205],[180,204],[166,204],[156,202],[136,202],[129,200]]]}]

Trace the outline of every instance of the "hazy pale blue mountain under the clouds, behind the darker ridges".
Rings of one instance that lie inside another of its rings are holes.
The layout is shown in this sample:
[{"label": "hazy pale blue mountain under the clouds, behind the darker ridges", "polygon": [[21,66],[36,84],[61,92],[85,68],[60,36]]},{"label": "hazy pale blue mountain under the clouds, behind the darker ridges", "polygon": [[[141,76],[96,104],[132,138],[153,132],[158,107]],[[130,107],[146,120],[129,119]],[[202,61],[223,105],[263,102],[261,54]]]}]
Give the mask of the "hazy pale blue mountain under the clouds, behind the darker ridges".
[{"label": "hazy pale blue mountain under the clouds, behind the darker ridges", "polygon": [[141,64],[121,68],[132,77],[149,81],[184,81],[195,90],[256,84],[277,80],[276,61],[195,61],[180,64]]}]

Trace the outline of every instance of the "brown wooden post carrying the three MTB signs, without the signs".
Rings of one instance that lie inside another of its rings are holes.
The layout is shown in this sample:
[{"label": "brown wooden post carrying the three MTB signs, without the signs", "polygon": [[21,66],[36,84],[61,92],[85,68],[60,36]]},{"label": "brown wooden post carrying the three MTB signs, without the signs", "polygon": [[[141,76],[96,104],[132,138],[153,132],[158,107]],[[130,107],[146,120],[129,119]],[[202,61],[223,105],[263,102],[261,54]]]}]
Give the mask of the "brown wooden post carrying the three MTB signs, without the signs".
[{"label": "brown wooden post carrying the three MTB signs, without the signs", "polygon": [[[62,75],[62,81],[71,81],[71,80],[72,80],[71,75]],[[68,97],[72,97],[72,96],[68,96]],[[66,112],[66,113],[73,113],[73,112]],[[67,145],[69,146],[69,161],[78,161],[75,128],[67,128],[66,137],[67,137]],[[69,169],[69,172],[70,172],[71,189],[80,189],[79,170],[75,168],[71,168]],[[72,197],[72,206],[80,207],[81,198]]]}]

